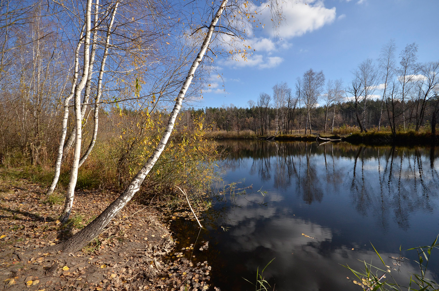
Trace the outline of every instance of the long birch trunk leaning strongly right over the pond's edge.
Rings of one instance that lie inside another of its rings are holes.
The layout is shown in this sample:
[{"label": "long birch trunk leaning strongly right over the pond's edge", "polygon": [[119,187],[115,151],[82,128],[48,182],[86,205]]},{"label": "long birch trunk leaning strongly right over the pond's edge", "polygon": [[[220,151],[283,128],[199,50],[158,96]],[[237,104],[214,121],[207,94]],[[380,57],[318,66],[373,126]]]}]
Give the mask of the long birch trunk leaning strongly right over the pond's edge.
[{"label": "long birch trunk leaning strongly right over the pond's edge", "polygon": [[210,41],[212,39],[212,34],[215,29],[215,25],[219,20],[219,17],[223,13],[227,4],[227,0],[223,0],[221,2],[221,6],[218,11],[216,11],[215,16],[212,18],[212,22],[209,25],[209,30],[205,36],[203,44],[200,48],[200,52],[192,63],[191,69],[187,73],[186,80],[184,81],[183,86],[176,98],[176,102],[173,110],[170,113],[168,124],[166,125],[166,130],[163,133],[158,146],[155,148],[153,154],[148,158],[144,166],[140,169],[140,171],[133,177],[130,184],[126,187],[126,189],[121,193],[121,195],[116,198],[97,218],[95,218],[90,224],[88,224],[85,228],[83,228],[79,233],[76,233],[69,240],[67,240],[63,245],[61,245],[61,249],[65,252],[76,251],[82,248],[87,242],[93,240],[96,236],[98,236],[105,226],[107,226],[108,222],[112,220],[113,217],[133,198],[134,194],[139,191],[140,185],[144,181],[146,175],[148,175],[151,168],[154,166],[155,162],[158,160],[158,157],[162,153],[163,149],[168,142],[168,139],[173,131],[174,123],[176,117],[180,111],[181,104],[184,99],[184,95],[191,84],[191,81],[194,77],[195,70],[198,65],[201,63],[207,48],[209,47]]}]

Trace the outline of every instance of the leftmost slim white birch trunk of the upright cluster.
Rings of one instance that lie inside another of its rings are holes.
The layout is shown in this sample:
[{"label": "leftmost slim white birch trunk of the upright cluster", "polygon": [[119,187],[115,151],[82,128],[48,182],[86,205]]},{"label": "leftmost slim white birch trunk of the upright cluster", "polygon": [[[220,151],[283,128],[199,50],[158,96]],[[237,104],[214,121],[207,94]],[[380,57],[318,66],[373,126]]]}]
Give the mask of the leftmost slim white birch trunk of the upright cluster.
[{"label": "leftmost slim white birch trunk of the upright cluster", "polygon": [[[83,26],[82,30],[84,29],[85,26]],[[82,45],[82,36],[83,34],[81,33],[78,45],[76,46],[76,50],[75,50],[75,72],[73,73],[72,88],[70,89],[70,94],[64,99],[64,104],[63,104],[64,112],[61,122],[61,137],[59,138],[58,155],[55,160],[54,178],[52,180],[52,184],[50,184],[49,189],[47,189],[46,192],[47,195],[50,195],[54,192],[56,184],[58,184],[59,175],[61,173],[61,160],[64,151],[65,136],[67,135],[68,103],[70,102],[70,100],[72,100],[72,97],[75,94],[75,90],[76,90],[76,81],[78,80],[78,72],[79,72],[79,49],[81,48]]]}]

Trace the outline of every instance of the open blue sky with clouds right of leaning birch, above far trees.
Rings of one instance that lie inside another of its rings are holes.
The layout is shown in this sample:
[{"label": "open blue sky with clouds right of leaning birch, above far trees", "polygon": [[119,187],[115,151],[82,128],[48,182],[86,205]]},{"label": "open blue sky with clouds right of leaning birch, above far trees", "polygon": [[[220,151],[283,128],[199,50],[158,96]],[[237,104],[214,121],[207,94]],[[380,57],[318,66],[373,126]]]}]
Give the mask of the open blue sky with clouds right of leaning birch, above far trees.
[{"label": "open blue sky with clouds right of leaning birch, above far trees", "polygon": [[268,26],[270,19],[265,19],[265,29],[256,31],[251,40],[256,51],[248,62],[216,59],[223,80],[213,77],[194,107],[230,103],[245,107],[260,92],[271,95],[277,82],[293,88],[295,79],[309,68],[323,70],[326,80],[342,78],[347,84],[351,71],[366,58],[379,58],[391,38],[396,57],[416,42],[418,62],[439,60],[439,0],[292,1],[284,7],[286,24],[278,40]]}]

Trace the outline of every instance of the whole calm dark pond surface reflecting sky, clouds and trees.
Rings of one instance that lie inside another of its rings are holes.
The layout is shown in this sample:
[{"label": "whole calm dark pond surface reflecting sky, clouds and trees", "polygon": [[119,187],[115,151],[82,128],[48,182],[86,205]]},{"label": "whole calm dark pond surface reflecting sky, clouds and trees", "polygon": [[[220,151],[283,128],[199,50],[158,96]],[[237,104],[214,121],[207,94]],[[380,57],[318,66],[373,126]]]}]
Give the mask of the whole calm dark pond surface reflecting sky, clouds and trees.
[{"label": "whole calm dark pond surface reflecting sky, clouds and trees", "polygon": [[[359,291],[342,265],[360,270],[359,260],[366,260],[379,266],[373,244],[388,265],[391,256],[409,258],[399,273],[392,271],[406,277],[418,272],[416,253],[400,254],[399,247],[431,244],[439,233],[439,159],[430,147],[259,141],[220,146],[229,152],[220,161],[224,184],[252,189],[216,196],[199,235],[193,222],[182,219],[173,228],[179,247],[195,244],[194,260],[209,261],[211,283],[223,291],[254,290],[243,278],[254,282],[258,266],[272,258],[264,273],[271,290]],[[209,249],[198,251],[203,240]],[[429,276],[436,281],[438,262],[435,250]]]}]

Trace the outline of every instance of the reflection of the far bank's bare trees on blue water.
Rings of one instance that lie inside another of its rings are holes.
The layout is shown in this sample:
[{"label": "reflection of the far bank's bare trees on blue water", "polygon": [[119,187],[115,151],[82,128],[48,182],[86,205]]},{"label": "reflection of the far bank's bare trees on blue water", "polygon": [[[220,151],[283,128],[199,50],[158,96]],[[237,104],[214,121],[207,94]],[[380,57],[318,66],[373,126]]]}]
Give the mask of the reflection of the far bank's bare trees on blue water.
[{"label": "reflection of the far bank's bare trees on blue water", "polygon": [[[270,188],[281,189],[307,204],[320,202],[325,195],[348,195],[357,211],[378,218],[382,228],[393,220],[407,229],[410,214],[431,210],[432,196],[438,196],[439,175],[432,148],[260,141],[233,144],[225,146],[234,150],[229,165],[251,165],[250,174],[257,175],[269,192]],[[346,165],[349,161],[350,166]],[[424,171],[426,163],[431,171]]]}]

